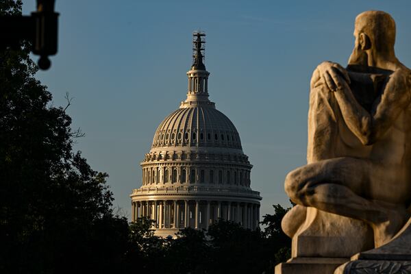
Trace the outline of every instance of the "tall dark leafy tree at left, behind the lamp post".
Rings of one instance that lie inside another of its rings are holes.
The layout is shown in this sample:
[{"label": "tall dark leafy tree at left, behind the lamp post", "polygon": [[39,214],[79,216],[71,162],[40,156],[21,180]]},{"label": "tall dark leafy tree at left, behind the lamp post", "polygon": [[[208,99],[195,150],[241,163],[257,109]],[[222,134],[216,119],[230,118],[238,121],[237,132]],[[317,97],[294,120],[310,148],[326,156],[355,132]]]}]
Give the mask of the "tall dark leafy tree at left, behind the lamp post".
[{"label": "tall dark leafy tree at left, behind the lamp post", "polygon": [[[0,1],[21,14],[21,1]],[[121,268],[128,227],[108,176],[73,153],[71,118],[34,78],[27,45],[0,52],[0,273]]]}]

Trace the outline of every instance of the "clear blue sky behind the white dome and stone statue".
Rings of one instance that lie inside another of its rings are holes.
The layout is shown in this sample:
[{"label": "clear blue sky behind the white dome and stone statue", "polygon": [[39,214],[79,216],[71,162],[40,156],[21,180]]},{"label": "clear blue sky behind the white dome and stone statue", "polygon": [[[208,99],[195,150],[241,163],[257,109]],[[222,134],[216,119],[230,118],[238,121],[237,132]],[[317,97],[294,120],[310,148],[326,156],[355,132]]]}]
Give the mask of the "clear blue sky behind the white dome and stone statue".
[{"label": "clear blue sky behind the white dome and stone statue", "polygon": [[[23,1],[23,13],[35,8]],[[308,92],[324,60],[344,66],[354,18],[384,10],[397,22],[397,57],[411,66],[411,1],[57,0],[59,52],[38,79],[86,134],[75,149],[110,174],[114,206],[129,214],[140,161],[162,119],[186,98],[192,32],[207,33],[210,99],[236,125],[253,164],[251,186],[289,206],[284,177],[306,163]],[[37,57],[34,57],[35,59]]]}]

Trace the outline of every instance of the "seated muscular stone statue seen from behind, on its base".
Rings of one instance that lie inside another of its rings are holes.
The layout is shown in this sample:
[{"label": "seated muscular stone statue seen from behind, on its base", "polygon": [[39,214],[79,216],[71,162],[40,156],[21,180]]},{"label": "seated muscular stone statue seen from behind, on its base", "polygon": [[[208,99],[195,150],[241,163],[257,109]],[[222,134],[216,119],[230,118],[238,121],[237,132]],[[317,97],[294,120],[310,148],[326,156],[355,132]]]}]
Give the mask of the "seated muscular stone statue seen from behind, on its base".
[{"label": "seated muscular stone statue seen from behind, on its base", "polygon": [[[386,12],[359,14],[353,35],[346,69],[323,62],[312,75],[308,164],[285,182],[297,203],[282,222],[292,238],[289,263],[321,258],[312,273],[333,273],[354,254],[389,245],[410,219],[411,71],[395,57]],[[276,273],[298,273],[287,267]]]}]

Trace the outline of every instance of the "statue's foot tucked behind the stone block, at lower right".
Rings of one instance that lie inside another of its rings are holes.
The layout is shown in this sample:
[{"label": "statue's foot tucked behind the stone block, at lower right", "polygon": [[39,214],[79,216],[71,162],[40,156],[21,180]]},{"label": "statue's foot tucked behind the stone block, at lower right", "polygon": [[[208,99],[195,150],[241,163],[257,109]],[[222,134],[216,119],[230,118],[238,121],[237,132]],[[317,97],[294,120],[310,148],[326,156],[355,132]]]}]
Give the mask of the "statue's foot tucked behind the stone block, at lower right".
[{"label": "statue's foot tucked behind the stone block, at lower right", "polygon": [[387,210],[387,216],[387,221],[373,224],[375,248],[381,247],[392,240],[410,218],[410,213],[401,207],[395,210]]}]

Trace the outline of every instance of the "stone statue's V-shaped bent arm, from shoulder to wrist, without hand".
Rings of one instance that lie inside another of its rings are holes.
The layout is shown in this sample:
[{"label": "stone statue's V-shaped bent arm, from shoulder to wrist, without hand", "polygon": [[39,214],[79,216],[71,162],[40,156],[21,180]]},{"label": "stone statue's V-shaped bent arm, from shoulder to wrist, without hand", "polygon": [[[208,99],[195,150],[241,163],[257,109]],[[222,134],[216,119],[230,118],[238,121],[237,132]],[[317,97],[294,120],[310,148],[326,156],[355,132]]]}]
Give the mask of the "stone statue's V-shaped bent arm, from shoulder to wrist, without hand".
[{"label": "stone statue's V-shaped bent arm, from shoulder to wrist, without hand", "polygon": [[363,145],[372,145],[393,125],[401,111],[410,104],[410,74],[395,71],[374,103],[371,114],[354,97],[351,88],[343,83],[335,92],[343,118],[351,132]]}]

